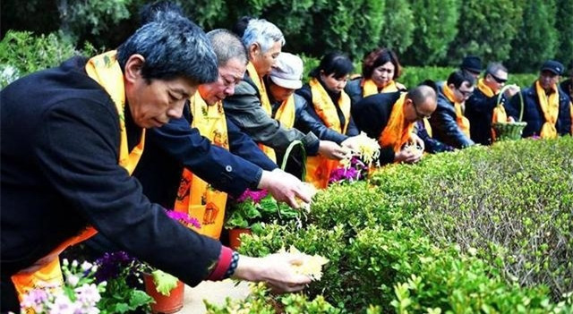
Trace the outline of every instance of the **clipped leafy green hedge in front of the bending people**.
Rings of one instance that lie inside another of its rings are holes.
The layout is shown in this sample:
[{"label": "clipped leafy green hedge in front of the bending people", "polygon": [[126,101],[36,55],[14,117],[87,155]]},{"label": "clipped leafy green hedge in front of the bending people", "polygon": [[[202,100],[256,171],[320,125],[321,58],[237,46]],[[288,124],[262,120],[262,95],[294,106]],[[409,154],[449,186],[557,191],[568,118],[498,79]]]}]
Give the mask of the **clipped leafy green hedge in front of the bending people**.
[{"label": "clipped leafy green hedge in front of the bending people", "polygon": [[572,151],[570,137],[517,140],[389,165],[321,191],[302,228],[268,225],[240,250],[329,258],[305,294],[342,312],[570,313]]}]

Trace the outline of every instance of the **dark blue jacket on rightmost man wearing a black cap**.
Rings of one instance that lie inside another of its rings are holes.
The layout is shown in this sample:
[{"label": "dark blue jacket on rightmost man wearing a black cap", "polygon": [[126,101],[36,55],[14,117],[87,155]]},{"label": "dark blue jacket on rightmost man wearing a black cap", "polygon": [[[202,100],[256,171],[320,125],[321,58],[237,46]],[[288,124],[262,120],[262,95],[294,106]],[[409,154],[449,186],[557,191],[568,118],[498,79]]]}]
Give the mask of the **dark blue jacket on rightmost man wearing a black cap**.
[{"label": "dark blue jacket on rightmost man wearing a black cap", "polygon": [[[522,121],[526,122],[526,128],[521,134],[522,137],[527,138],[533,135],[539,135],[541,127],[545,122],[543,111],[539,105],[537,92],[535,91],[535,83],[532,87],[521,90],[523,96],[523,118]],[[560,135],[569,134],[571,132],[571,114],[569,112],[569,97],[562,89],[559,89],[559,115],[557,116],[557,133]],[[517,121],[519,112],[521,111],[519,96],[515,95],[509,101],[509,106],[506,106],[508,115],[513,116]]]}]

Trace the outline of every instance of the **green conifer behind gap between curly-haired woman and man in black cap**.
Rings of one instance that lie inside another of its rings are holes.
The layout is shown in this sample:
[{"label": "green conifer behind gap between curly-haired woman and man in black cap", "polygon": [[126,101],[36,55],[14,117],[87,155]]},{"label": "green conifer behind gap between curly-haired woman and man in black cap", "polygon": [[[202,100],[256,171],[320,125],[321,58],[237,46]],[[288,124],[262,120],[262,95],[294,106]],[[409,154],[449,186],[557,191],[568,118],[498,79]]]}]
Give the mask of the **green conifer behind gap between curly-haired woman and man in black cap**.
[{"label": "green conifer behind gap between curly-haired woman and man in black cap", "polygon": [[416,28],[414,42],[402,59],[406,64],[456,64],[450,59],[449,44],[458,35],[459,2],[457,0],[410,0]]}]

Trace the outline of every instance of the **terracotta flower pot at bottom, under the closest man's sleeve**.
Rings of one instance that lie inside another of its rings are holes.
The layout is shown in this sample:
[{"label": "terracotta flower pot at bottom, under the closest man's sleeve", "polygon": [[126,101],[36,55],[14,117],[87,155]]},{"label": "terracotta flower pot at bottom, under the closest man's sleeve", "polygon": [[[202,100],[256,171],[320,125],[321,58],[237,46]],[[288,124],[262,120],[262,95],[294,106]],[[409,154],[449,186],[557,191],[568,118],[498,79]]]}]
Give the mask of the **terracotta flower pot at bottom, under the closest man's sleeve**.
[{"label": "terracotta flower pot at bottom, under the closest man's sleeve", "polygon": [[145,293],[148,293],[155,301],[150,304],[153,313],[171,314],[183,308],[185,285],[181,280],[177,282],[177,286],[171,290],[168,296],[158,292],[153,282],[153,276],[150,274],[143,274],[143,282],[145,283]]}]

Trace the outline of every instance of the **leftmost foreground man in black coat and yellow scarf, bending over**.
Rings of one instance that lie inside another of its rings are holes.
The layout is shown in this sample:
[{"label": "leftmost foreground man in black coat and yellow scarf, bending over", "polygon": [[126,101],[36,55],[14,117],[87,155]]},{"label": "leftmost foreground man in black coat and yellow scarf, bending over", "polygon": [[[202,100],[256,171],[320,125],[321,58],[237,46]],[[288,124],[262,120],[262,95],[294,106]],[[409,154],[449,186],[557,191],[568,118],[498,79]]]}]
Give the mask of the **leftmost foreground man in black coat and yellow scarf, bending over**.
[{"label": "leftmost foreground man in black coat and yellow scarf, bending over", "polygon": [[[238,259],[219,242],[190,231],[143,197],[129,175],[143,149],[144,129],[180,117],[196,86],[217,74],[202,30],[172,15],[141,27],[116,53],[89,61],[75,57],[2,90],[2,311],[18,311],[16,289],[25,293],[34,284],[28,280],[53,266],[71,239],[93,230],[186,284],[232,274],[267,281],[280,291],[309,283],[289,267],[293,256]],[[233,180],[246,188],[252,182],[232,176],[234,171],[256,169],[238,157],[227,163],[211,157],[205,165],[205,174],[219,177],[221,187]],[[300,192],[310,200],[303,191],[291,191],[289,199]]]}]

